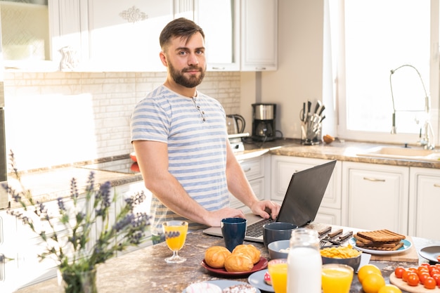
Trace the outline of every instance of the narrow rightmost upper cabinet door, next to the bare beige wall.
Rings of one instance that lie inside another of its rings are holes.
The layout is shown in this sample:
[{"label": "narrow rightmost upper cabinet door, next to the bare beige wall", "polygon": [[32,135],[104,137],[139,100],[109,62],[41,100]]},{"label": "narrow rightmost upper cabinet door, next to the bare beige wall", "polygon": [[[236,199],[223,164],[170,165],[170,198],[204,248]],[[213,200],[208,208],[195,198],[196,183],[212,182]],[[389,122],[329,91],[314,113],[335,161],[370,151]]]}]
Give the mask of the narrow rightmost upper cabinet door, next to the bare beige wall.
[{"label": "narrow rightmost upper cabinet door, next to the bare beige wall", "polygon": [[278,0],[242,0],[241,70],[276,70]]}]

